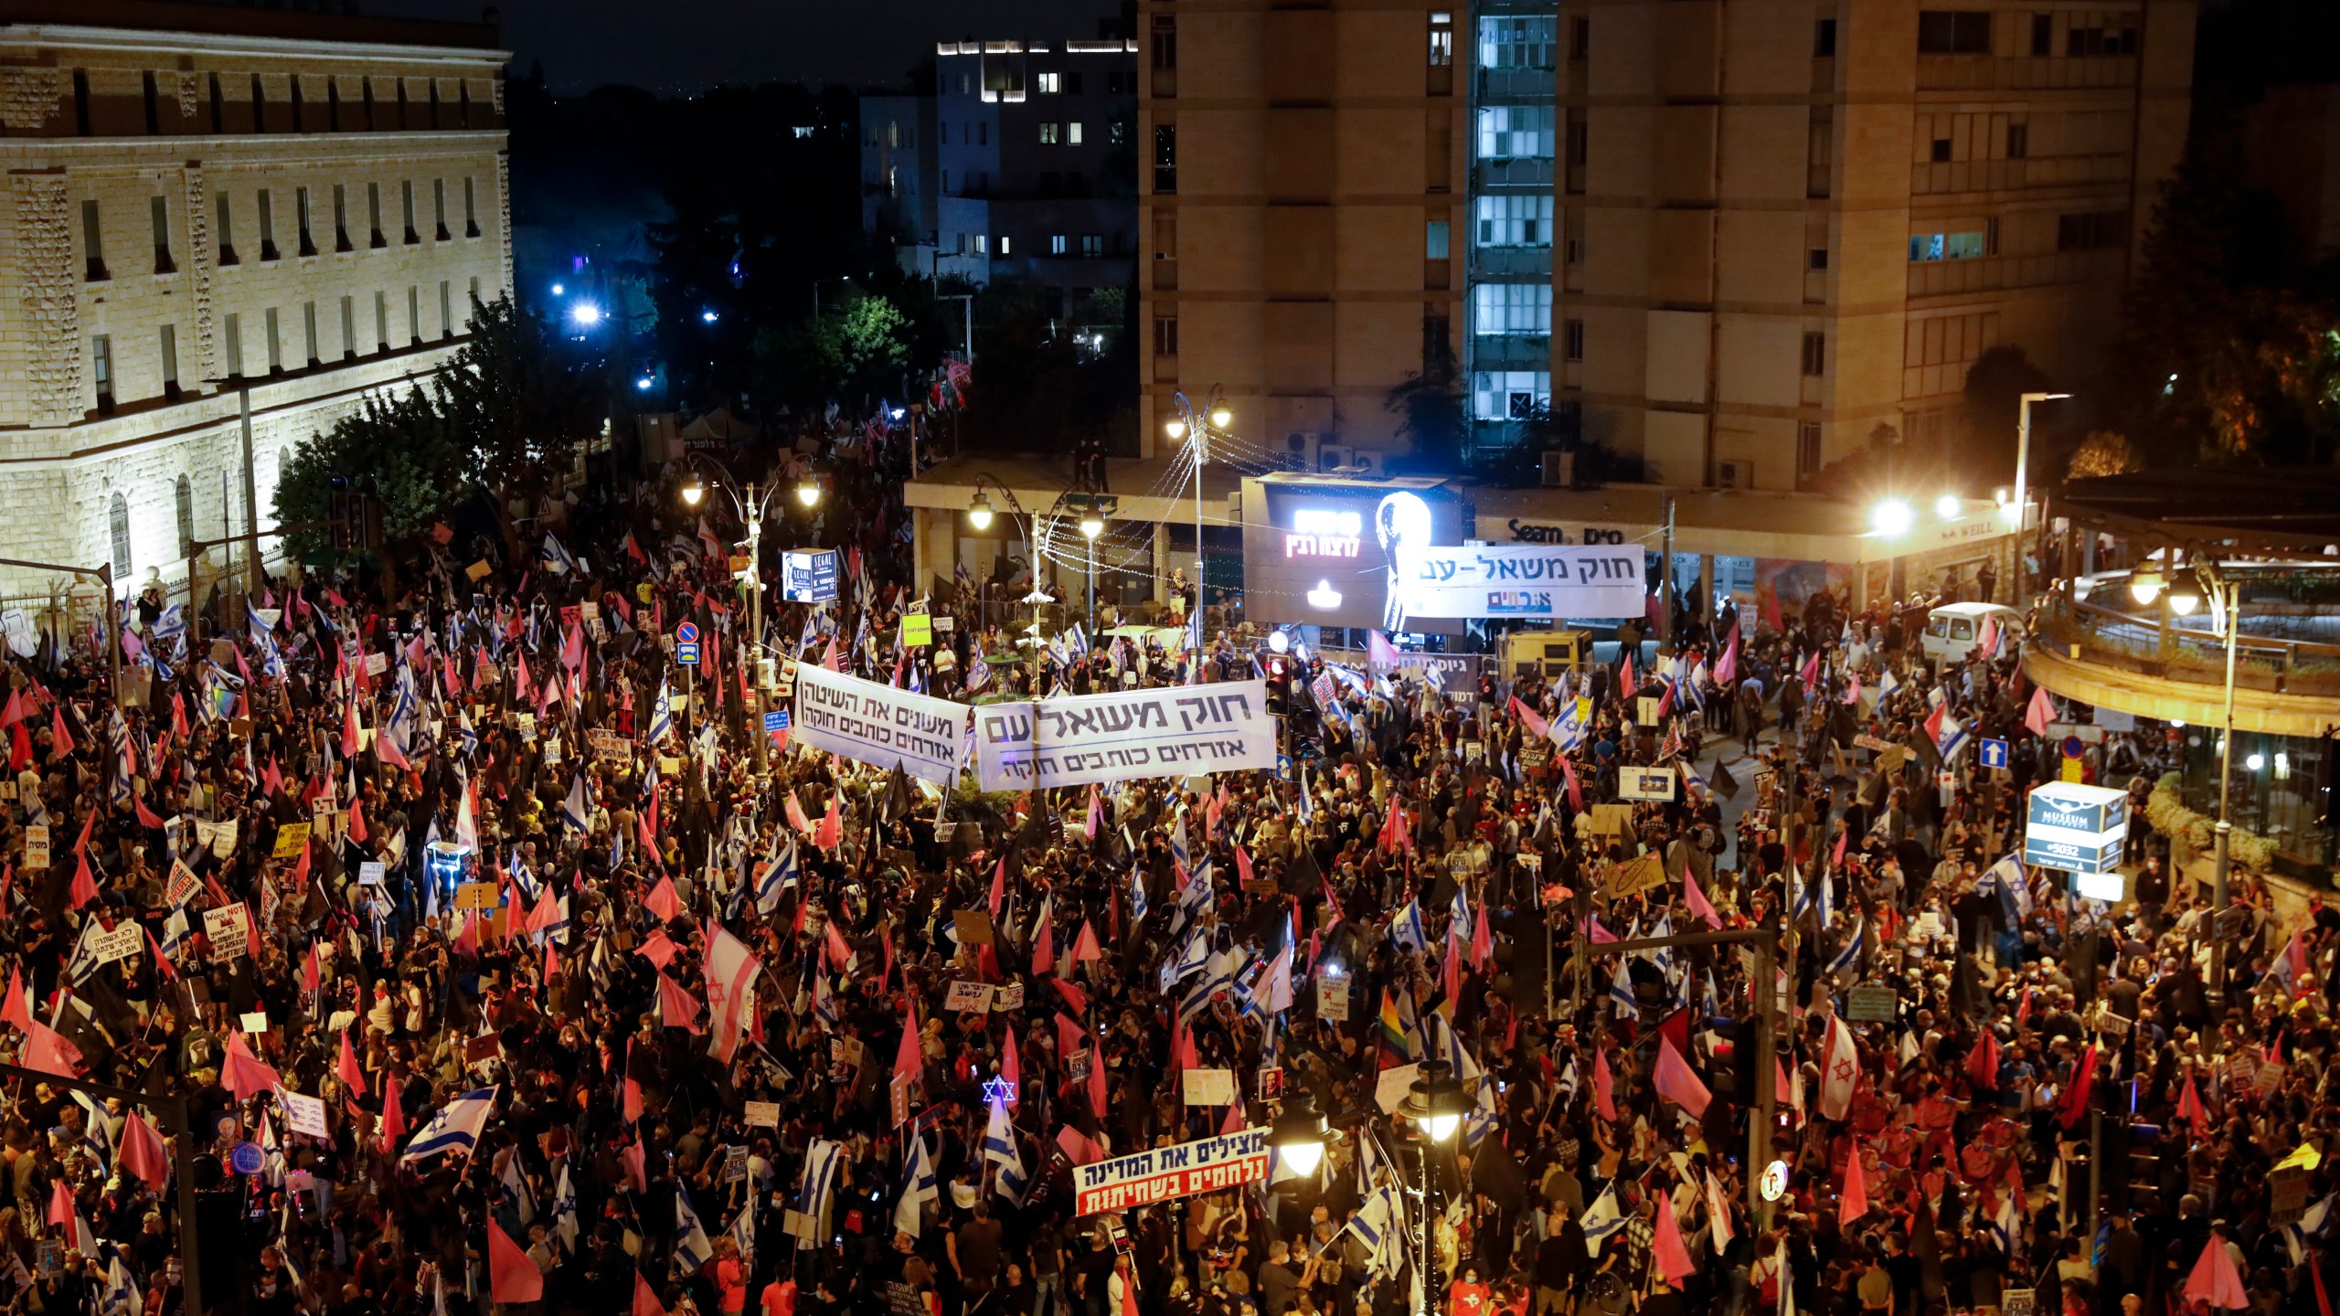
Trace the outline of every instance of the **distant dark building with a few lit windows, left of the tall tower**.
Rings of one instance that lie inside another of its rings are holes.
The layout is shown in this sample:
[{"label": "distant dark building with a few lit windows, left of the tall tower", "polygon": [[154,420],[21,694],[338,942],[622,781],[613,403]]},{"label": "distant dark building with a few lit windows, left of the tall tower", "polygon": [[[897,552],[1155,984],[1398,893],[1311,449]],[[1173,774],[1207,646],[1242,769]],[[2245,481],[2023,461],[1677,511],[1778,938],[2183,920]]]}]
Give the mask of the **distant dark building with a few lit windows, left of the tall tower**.
[{"label": "distant dark building with a few lit windows, left of the tall tower", "polygon": [[1137,262],[1133,40],[943,42],[936,96],[915,112],[901,101],[866,96],[861,138],[908,126],[913,115],[931,122],[917,159],[892,150],[892,169],[934,185],[931,272],[1030,281],[1074,325],[1093,318],[1093,293],[1128,288]]}]

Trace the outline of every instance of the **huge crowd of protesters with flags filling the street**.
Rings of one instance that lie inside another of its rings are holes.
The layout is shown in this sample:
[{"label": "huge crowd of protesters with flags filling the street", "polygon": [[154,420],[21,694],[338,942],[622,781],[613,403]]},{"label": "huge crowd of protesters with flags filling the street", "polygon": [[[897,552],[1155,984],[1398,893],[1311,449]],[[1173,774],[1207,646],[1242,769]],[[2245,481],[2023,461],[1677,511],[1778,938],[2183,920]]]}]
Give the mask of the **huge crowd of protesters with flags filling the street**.
[{"label": "huge crowd of protesters with flags filling the street", "polygon": [[[1923,609],[1816,595],[1551,679],[1301,656],[1292,777],[1116,782],[1100,822],[758,754],[749,639],[955,698],[1032,674],[980,625],[896,651],[927,588],[887,499],[833,503],[845,599],[746,637],[737,527],[679,475],[211,625],[150,597],[119,700],[89,635],[12,656],[9,1309],[168,1316],[192,1260],[271,1316],[2328,1316],[2328,1173],[2277,1166],[2328,1150],[2335,920],[2242,880],[2209,981],[2129,735],[2083,773],[2132,787],[2134,899],[2008,859],[2069,714],[2019,635],[1928,660]],[[1226,635],[1039,667],[1264,670]],[[1650,766],[1675,798],[1619,801]],[[1753,955],[1608,948],[1750,927],[1788,934],[1762,1215]],[[1451,1143],[1395,1108],[1425,1061]],[[1076,1215],[1079,1166],[1301,1091],[1315,1171]]]}]

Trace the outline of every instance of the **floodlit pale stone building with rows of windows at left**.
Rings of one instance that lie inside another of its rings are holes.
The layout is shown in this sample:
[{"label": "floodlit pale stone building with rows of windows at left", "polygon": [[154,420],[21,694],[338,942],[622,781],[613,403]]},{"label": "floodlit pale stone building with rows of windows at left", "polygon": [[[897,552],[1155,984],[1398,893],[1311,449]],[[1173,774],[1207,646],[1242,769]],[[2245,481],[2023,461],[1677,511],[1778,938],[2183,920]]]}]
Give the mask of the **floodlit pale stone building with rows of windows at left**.
[{"label": "floodlit pale stone building with rows of windows at left", "polygon": [[[283,452],[510,288],[494,28],[0,0],[9,557],[183,578]],[[0,592],[49,578],[0,569]]]}]

